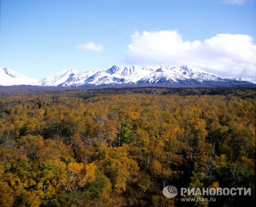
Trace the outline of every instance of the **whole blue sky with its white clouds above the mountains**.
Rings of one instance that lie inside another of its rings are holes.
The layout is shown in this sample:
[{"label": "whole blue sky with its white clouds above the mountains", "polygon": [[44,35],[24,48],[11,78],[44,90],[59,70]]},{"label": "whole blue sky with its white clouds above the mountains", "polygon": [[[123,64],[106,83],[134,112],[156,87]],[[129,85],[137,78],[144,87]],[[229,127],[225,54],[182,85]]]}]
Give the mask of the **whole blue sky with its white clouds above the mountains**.
[{"label": "whole blue sky with its white clouds above the mountains", "polygon": [[1,0],[0,66],[42,79],[188,63],[255,81],[255,22],[255,0]]}]

